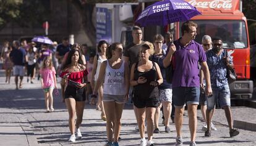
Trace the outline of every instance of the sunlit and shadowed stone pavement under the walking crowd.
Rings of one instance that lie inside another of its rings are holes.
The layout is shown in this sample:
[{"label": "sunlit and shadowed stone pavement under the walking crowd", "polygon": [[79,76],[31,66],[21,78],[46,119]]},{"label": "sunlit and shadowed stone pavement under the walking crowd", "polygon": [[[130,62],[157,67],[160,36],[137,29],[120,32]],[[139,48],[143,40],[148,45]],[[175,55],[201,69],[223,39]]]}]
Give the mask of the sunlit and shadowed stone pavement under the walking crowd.
[{"label": "sunlit and shadowed stone pavement under the walking crowd", "polygon": [[[68,113],[60,97],[54,97],[55,112],[45,113],[43,91],[40,82],[25,83],[22,89],[14,90],[14,77],[11,84],[4,83],[0,73],[0,145],[104,145],[106,142],[105,121],[100,120],[100,112],[86,105],[81,127],[83,138],[75,144],[67,142],[70,132]],[[27,79],[25,78],[24,81]],[[233,107],[234,120],[256,123],[255,108]],[[213,118],[218,131],[212,137],[203,137],[201,113],[198,110],[197,145],[256,145],[254,131],[240,129],[241,134],[230,138],[224,111],[217,109]],[[160,120],[161,123],[162,120]],[[132,105],[127,104],[122,114],[121,140],[119,145],[139,145],[139,132],[135,132],[135,117]],[[176,132],[171,123],[171,133],[164,133],[160,124],[160,134],[154,134],[155,145],[175,145]],[[189,145],[189,127],[187,112],[182,128],[184,145]]]}]

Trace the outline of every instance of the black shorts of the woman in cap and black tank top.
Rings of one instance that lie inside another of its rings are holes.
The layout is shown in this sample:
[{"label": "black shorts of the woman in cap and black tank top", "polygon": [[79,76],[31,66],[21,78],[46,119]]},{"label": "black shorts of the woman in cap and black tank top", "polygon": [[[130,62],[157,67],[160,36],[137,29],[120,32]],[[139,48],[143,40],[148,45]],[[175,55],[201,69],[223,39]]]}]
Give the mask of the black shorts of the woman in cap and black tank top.
[{"label": "black shorts of the woman in cap and black tank top", "polygon": [[160,105],[158,98],[158,87],[155,87],[149,95],[145,94],[145,91],[134,91],[132,102],[137,108],[158,107]]}]

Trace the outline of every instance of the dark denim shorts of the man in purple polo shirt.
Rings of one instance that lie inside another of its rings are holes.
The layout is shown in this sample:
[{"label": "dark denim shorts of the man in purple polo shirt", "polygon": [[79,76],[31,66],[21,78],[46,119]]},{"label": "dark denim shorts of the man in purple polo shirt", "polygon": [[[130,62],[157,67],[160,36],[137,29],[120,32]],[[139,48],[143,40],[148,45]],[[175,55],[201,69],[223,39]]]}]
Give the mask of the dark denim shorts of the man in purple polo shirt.
[{"label": "dark denim shorts of the man in purple polo shirt", "polygon": [[174,107],[182,108],[187,104],[199,104],[200,87],[173,87]]}]

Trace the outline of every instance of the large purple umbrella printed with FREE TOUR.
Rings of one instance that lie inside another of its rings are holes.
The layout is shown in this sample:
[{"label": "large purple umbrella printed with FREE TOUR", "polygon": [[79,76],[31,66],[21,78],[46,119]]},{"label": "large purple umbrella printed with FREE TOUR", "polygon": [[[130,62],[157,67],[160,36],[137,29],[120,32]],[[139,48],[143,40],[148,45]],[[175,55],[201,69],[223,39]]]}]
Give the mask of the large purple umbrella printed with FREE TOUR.
[{"label": "large purple umbrella printed with FREE TOUR", "polygon": [[202,15],[191,6],[189,2],[183,0],[165,0],[155,2],[148,6],[137,18],[136,22],[140,26],[148,25],[168,25],[173,22],[185,22],[195,15]]}]

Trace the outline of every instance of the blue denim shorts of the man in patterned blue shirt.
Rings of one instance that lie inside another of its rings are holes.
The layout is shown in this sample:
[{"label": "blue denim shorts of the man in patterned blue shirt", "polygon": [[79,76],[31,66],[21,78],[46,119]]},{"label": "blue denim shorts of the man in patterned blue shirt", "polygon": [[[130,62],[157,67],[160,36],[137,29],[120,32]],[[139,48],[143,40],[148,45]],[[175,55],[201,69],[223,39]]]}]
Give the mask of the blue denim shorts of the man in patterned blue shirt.
[{"label": "blue denim shorts of the man in patterned blue shirt", "polygon": [[221,87],[212,87],[213,95],[211,97],[207,97],[207,109],[211,110],[215,108],[215,104],[217,102],[220,103],[221,108],[225,106],[230,107],[230,91],[228,84],[223,85]]}]

